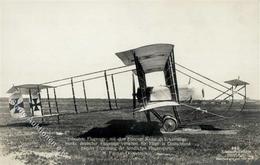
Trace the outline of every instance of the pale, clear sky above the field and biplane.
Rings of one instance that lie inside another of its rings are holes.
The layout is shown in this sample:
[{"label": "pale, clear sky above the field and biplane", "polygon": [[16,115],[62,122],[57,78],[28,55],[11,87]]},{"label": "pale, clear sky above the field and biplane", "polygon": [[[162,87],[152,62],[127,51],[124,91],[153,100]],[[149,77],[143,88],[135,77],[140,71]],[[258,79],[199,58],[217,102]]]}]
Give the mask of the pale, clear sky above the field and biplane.
[{"label": "pale, clear sky above the field and biplane", "polygon": [[[257,0],[0,2],[0,96],[13,84],[122,66],[116,52],[169,43],[177,63],[221,83],[239,76],[250,83],[248,96],[260,99]],[[188,82],[177,76],[180,84]],[[164,82],[160,73],[148,79]],[[118,97],[131,97],[130,73],[115,83]],[[82,97],[82,86],[75,88]],[[103,79],[87,82],[86,89],[89,97],[106,97]],[[69,97],[71,89],[57,94]]]}]

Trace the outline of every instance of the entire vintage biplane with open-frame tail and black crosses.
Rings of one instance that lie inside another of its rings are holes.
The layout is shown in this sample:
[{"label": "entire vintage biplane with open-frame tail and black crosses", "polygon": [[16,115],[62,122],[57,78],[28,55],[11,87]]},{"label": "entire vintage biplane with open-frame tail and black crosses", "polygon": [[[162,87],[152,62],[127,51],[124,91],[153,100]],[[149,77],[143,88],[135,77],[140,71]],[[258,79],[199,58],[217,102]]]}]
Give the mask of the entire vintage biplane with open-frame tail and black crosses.
[{"label": "entire vintage biplane with open-frame tail and black crosses", "polygon": [[[10,93],[9,107],[11,116],[14,118],[25,118],[26,116],[42,118],[56,116],[59,121],[59,116],[61,113],[58,108],[58,101],[56,96],[56,89],[70,86],[72,91],[73,108],[75,113],[79,112],[79,101],[76,99],[76,92],[74,86],[76,84],[82,84],[82,89],[84,92],[84,105],[87,112],[89,112],[88,98],[85,85],[88,81],[95,79],[104,78],[107,100],[109,109],[118,109],[116,88],[114,76],[118,74],[123,74],[126,72],[132,72],[132,110],[135,113],[144,113],[148,123],[151,122],[151,115],[154,115],[156,119],[162,125],[162,128],[166,132],[175,131],[178,127],[184,125],[183,120],[180,115],[180,110],[185,107],[191,111],[191,113],[200,112],[201,116],[207,114],[205,117],[206,121],[216,121],[218,119],[228,119],[235,117],[236,115],[227,115],[231,111],[233,102],[235,100],[235,95],[242,97],[243,104],[240,107],[240,111],[243,111],[246,104],[246,86],[249,84],[245,81],[234,79],[226,81],[230,87],[218,83],[202,74],[199,74],[181,64],[175,62],[174,57],[174,45],[172,44],[153,44],[147,45],[123,52],[116,53],[116,56],[125,64],[124,66],[110,68],[106,70],[100,70],[96,72],[86,73],[82,75],[71,76],[67,78],[62,78],[58,80],[53,80],[45,82],[42,84],[24,84],[13,86],[7,91]],[[129,69],[130,68],[130,69]],[[165,84],[158,86],[148,86],[146,79],[147,74],[154,72],[162,72],[164,75]],[[184,75],[189,78],[189,82],[186,85],[178,84],[178,74]],[[91,77],[89,77],[91,76]],[[114,95],[113,107],[111,101],[111,94],[109,90],[109,79],[112,80],[112,89]],[[197,76],[197,77],[195,77]],[[136,85],[136,77],[138,82],[138,87]],[[192,86],[192,81],[201,83],[207,88],[211,88],[218,92],[218,95],[213,99],[205,99],[204,88],[198,88]],[[220,89],[221,88],[221,89]],[[56,112],[53,113],[53,105],[51,106],[49,89],[53,89],[54,94],[54,107]],[[46,90],[47,92],[47,103],[49,113],[44,112],[42,106],[41,91]],[[241,91],[244,91],[242,94]],[[22,95],[29,95],[29,107],[30,113],[24,113],[24,105]],[[194,103],[193,101],[198,101]],[[204,102],[202,104],[202,101]],[[211,106],[215,106],[217,102],[227,103],[228,107],[225,108],[223,113],[215,113],[211,111]],[[160,109],[168,108],[170,113],[162,114]],[[61,111],[63,108],[61,108]],[[194,114],[195,114],[194,113]],[[205,122],[205,120],[203,120]],[[195,122],[198,123],[198,122]],[[190,122],[194,124],[194,122]]]}]

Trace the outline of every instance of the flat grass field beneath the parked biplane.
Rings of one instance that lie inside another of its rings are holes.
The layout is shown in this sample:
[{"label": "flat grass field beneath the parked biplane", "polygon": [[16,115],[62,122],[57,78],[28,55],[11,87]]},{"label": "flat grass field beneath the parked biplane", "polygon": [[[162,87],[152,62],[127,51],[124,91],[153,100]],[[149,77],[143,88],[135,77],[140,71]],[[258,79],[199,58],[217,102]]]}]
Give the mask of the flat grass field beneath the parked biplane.
[{"label": "flat grass field beneath the parked biplane", "polygon": [[[142,113],[133,117],[131,100],[119,100],[120,108],[111,111],[106,100],[92,99],[89,113],[83,100],[78,100],[78,114],[71,99],[59,99],[58,103],[61,114],[70,114],[62,115],[60,124],[53,117],[40,126],[65,155],[28,122],[11,120],[8,99],[2,98],[3,157],[23,164],[260,164],[258,103],[248,103],[236,118],[185,126],[173,134],[162,134],[155,118],[148,124]],[[46,103],[43,106],[47,108]],[[239,106],[237,103],[229,113],[237,113]],[[52,108],[54,111],[53,103]],[[217,112],[225,109],[221,105],[211,108]],[[180,114],[186,121],[194,118],[194,113],[186,110],[181,109]]]}]

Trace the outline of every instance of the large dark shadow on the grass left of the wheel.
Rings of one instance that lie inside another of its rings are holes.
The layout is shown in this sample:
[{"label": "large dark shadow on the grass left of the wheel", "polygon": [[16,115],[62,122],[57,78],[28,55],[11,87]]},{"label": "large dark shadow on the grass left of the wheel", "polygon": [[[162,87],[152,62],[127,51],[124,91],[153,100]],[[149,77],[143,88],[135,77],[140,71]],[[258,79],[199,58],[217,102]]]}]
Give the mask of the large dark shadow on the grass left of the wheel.
[{"label": "large dark shadow on the grass left of the wheel", "polygon": [[76,138],[124,138],[127,135],[160,136],[158,122],[136,122],[135,120],[111,120],[106,127],[92,128]]}]

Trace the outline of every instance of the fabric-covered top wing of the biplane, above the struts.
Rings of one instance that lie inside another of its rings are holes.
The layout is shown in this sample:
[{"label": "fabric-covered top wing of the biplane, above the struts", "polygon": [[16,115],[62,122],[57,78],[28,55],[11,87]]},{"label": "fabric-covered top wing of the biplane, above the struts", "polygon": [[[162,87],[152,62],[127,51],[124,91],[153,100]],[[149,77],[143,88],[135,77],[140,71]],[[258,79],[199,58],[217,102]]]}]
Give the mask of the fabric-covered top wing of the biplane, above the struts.
[{"label": "fabric-covered top wing of the biplane, above the struts", "polygon": [[127,66],[134,65],[134,54],[138,57],[145,73],[162,71],[165,63],[170,55],[173,53],[174,45],[171,44],[154,44],[131,49],[124,52],[116,53],[116,55]]}]

